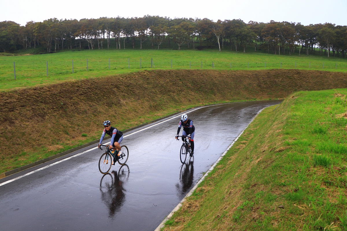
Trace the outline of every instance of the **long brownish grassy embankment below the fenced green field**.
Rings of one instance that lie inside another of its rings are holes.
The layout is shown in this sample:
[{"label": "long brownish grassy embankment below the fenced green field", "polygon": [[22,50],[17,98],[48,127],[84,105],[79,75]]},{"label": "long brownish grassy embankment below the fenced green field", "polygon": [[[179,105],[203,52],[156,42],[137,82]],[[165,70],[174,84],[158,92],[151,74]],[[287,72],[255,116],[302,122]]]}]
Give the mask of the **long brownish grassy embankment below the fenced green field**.
[{"label": "long brownish grassy embankment below the fenced green field", "polygon": [[156,70],[0,92],[0,172],[98,139],[105,119],[123,130],[191,106],[340,86],[340,72]]}]

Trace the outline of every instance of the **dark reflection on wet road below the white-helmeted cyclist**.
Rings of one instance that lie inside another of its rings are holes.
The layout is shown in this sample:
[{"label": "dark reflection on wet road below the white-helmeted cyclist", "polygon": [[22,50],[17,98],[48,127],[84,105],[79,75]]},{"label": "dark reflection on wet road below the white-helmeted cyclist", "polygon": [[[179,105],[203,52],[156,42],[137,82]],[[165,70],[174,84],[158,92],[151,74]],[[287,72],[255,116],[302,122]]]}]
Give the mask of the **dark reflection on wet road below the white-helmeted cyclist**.
[{"label": "dark reflection on wet road below the white-helmeted cyclist", "polygon": [[181,167],[179,180],[181,184],[176,184],[176,189],[179,196],[185,196],[193,185],[194,180],[194,159],[191,159],[189,163],[184,163]]}]

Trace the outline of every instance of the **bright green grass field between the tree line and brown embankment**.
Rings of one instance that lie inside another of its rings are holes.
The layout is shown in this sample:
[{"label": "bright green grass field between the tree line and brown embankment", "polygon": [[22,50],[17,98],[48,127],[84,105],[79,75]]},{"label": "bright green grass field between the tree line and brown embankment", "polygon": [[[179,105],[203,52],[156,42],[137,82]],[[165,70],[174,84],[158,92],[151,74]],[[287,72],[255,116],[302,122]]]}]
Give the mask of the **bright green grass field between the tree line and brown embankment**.
[{"label": "bright green grass field between the tree line and brown embankment", "polygon": [[[141,69],[140,69],[141,58]],[[88,71],[86,61],[88,59]],[[110,59],[110,70],[109,70]],[[129,69],[128,69],[129,59]],[[273,55],[223,50],[68,50],[41,55],[0,56],[0,91],[153,69],[260,70],[273,68],[347,71],[347,60],[320,55]],[[72,73],[72,60],[74,73]],[[14,62],[16,80],[14,79]],[[46,76],[48,62],[48,77]],[[266,68],[265,68],[266,62]],[[324,62],[324,69],[323,69]],[[249,63],[249,64],[248,64]],[[282,63],[282,64],[281,64]],[[249,68],[248,68],[249,65]]]}]

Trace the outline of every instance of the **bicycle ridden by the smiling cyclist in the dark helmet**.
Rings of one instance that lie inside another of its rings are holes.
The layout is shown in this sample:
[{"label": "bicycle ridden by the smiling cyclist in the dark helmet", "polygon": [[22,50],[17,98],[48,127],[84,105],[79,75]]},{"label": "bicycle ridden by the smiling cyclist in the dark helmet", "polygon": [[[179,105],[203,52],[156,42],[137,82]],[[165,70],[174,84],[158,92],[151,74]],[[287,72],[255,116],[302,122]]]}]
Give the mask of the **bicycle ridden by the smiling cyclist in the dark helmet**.
[{"label": "bicycle ridden by the smiling cyclist in the dark helmet", "polygon": [[[114,153],[111,152],[111,150],[109,149],[109,145],[100,145],[100,149],[101,146],[105,146],[106,147],[106,151],[104,154],[101,155],[100,160],[99,160],[99,170],[102,174],[107,174],[110,169],[111,169],[111,165],[112,165],[112,157],[113,157],[113,165],[115,165],[116,161],[118,161],[118,163],[120,165],[124,165],[129,157],[129,150],[128,147],[125,145],[122,145],[120,147],[120,151],[115,150]],[[102,149],[101,149],[102,150]],[[119,153],[119,156],[118,156]]]}]

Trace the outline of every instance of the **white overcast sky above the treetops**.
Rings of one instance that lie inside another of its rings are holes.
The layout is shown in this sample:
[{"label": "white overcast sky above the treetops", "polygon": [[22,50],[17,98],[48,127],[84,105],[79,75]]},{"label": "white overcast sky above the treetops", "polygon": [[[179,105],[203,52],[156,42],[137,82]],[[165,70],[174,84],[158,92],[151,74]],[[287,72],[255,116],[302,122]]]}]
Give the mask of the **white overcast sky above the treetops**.
[{"label": "white overcast sky above the treetops", "polygon": [[258,22],[289,21],[303,25],[335,23],[347,25],[347,0],[0,0],[0,21],[49,18],[82,19],[100,17],[242,19]]}]

